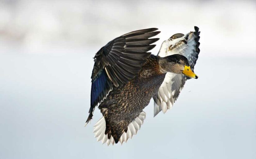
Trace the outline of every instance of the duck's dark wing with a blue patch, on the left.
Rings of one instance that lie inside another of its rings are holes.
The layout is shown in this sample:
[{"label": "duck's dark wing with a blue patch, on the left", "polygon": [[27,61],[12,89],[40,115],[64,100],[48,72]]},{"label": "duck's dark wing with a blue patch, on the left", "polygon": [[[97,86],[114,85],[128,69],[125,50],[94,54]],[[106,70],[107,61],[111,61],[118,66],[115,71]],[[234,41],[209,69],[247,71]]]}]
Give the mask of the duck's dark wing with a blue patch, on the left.
[{"label": "duck's dark wing with a blue patch, on the left", "polygon": [[157,40],[148,39],[160,33],[157,28],[132,31],[103,46],[94,57],[92,70],[91,107],[86,124],[92,119],[95,106],[101,103],[113,87],[130,81],[150,56],[147,52]]}]

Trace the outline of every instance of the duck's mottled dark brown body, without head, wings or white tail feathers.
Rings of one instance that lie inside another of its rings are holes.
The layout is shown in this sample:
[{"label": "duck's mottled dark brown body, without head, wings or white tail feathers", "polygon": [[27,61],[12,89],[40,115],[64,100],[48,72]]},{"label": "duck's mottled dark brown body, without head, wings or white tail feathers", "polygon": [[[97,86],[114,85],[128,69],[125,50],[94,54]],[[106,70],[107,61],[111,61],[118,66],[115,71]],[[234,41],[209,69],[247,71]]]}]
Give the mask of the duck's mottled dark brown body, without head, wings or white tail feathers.
[{"label": "duck's mottled dark brown body, without head, wings or white tail feathers", "polygon": [[141,71],[130,82],[114,87],[99,105],[106,120],[105,134],[109,138],[112,135],[116,143],[164,81],[165,73],[160,71],[158,60],[158,56],[148,57]]}]

